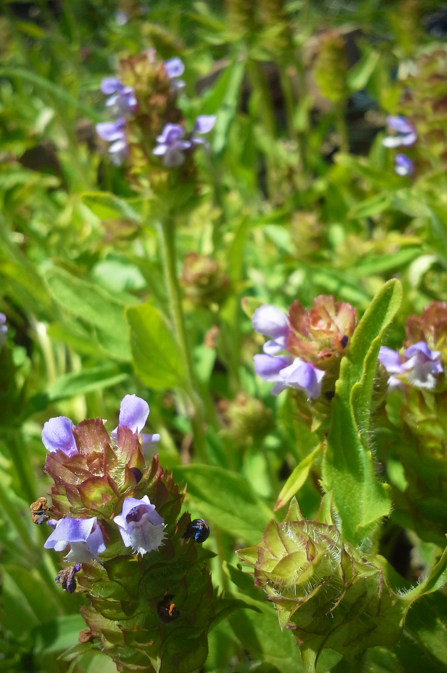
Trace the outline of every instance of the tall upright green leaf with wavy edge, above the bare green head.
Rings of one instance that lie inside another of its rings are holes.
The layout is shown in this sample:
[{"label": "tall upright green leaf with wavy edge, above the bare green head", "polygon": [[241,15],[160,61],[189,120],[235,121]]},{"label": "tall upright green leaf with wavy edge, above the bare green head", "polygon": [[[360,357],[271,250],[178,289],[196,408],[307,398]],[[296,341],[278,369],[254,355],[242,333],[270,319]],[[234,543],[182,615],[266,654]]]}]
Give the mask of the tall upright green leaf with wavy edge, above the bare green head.
[{"label": "tall upright green leaf with wavy edge, above the bare green head", "polygon": [[401,285],[378,291],[343,357],[332,402],[332,422],[323,459],[325,491],[333,491],[343,535],[359,544],[391,509],[389,491],[372,466],[368,429],[377,355],[384,331],[401,304]]}]

